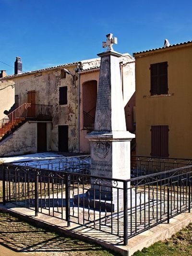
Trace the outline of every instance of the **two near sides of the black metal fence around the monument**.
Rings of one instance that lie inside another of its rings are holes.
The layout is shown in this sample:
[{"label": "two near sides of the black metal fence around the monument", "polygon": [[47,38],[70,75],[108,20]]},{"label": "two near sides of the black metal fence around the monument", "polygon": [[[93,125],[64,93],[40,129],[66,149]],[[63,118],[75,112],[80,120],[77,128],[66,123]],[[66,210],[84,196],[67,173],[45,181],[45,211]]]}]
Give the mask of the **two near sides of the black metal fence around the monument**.
[{"label": "two near sides of the black metal fence around the monument", "polygon": [[127,244],[132,236],[190,211],[191,183],[192,165],[120,180],[4,164],[3,204],[12,202]]}]

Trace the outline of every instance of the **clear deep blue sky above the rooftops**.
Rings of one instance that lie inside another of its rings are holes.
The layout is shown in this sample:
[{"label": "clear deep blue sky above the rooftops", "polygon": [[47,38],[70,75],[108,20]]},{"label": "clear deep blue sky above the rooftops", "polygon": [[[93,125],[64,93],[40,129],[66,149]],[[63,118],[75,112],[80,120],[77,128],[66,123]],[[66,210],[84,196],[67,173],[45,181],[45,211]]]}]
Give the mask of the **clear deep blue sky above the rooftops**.
[{"label": "clear deep blue sky above the rooftops", "polygon": [[[0,0],[0,61],[36,70],[96,58],[105,35],[121,53],[192,40],[191,0]],[[0,70],[13,68],[0,62]]]}]

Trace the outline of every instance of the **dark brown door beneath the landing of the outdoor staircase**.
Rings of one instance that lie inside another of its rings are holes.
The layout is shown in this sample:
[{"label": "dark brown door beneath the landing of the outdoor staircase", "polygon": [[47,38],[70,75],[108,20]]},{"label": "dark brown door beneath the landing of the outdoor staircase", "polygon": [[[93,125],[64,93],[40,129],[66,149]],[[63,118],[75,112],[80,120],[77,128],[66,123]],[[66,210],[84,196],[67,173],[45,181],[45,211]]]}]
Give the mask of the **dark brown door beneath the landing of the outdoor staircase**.
[{"label": "dark brown door beneath the landing of the outdoor staircase", "polygon": [[47,123],[37,122],[37,152],[47,151]]}]

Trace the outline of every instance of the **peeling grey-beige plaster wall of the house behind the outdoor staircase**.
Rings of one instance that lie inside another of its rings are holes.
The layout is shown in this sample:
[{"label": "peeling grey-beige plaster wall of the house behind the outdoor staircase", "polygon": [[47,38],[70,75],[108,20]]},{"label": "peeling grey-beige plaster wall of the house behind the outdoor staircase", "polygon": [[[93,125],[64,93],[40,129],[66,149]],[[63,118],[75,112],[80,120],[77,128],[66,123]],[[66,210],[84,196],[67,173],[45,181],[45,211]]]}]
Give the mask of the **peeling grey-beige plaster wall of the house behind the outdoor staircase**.
[{"label": "peeling grey-beige plaster wall of the house behind the outdoor staircase", "polygon": [[[66,67],[75,74],[76,66]],[[60,76],[60,69],[18,76],[14,78],[15,94],[19,95],[19,105],[27,102],[27,91],[36,91],[36,103],[53,106],[53,125],[49,128],[51,140],[49,149],[58,151],[58,125],[69,126],[69,151],[77,151],[77,87],[72,86],[72,76]],[[68,104],[59,105],[59,87],[68,87]]]}]

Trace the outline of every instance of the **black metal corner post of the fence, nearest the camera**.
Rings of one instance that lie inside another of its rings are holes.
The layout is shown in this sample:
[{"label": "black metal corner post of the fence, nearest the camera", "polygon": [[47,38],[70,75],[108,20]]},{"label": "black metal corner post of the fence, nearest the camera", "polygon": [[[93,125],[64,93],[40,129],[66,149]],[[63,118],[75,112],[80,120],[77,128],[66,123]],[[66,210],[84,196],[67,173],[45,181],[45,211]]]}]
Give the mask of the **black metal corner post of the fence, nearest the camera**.
[{"label": "black metal corner post of the fence, nearest the camera", "polygon": [[[127,245],[128,225],[127,225],[127,181],[123,182],[123,243]],[[130,198],[132,200],[132,198]]]}]

